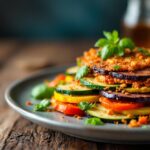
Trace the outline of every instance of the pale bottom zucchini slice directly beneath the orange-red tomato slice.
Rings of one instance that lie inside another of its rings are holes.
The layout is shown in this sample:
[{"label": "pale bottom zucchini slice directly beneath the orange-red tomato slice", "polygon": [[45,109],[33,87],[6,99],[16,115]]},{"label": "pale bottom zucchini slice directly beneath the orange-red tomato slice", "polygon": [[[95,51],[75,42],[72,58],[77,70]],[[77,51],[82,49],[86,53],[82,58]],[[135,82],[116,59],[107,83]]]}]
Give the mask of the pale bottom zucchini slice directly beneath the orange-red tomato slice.
[{"label": "pale bottom zucchini slice directly beneath the orange-red tomato slice", "polygon": [[98,117],[105,120],[122,120],[131,119],[129,115],[124,114],[109,114],[109,109],[97,104],[94,108],[87,110],[87,113],[91,116]]}]

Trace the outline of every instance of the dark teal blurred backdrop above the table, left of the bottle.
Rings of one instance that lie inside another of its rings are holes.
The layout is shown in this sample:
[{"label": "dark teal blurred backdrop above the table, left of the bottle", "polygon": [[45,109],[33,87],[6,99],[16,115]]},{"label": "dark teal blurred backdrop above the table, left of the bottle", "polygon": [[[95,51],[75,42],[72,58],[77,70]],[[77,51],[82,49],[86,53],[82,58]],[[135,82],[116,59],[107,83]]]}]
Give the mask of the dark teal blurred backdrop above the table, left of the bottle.
[{"label": "dark teal blurred backdrop above the table, left of the bottle", "polygon": [[0,36],[31,40],[97,38],[120,30],[127,0],[1,0]]}]

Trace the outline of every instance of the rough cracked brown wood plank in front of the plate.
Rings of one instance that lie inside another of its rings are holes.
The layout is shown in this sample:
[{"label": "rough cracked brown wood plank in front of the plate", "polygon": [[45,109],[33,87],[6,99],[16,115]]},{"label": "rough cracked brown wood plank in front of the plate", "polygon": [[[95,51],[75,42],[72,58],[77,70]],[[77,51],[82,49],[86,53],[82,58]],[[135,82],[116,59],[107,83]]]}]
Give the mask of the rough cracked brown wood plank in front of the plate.
[{"label": "rough cracked brown wood plank in front of the plate", "polygon": [[70,137],[19,118],[3,146],[3,150],[13,149],[97,150],[97,146],[93,142]]}]

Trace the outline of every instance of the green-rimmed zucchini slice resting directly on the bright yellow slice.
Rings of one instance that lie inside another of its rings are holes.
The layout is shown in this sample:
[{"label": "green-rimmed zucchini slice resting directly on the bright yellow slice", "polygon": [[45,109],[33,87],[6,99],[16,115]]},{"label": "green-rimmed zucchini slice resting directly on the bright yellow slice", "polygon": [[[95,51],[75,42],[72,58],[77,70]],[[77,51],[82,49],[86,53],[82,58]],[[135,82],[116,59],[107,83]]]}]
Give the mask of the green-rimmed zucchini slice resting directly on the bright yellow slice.
[{"label": "green-rimmed zucchini slice resting directly on the bright yellow slice", "polygon": [[56,88],[56,92],[62,93],[62,94],[68,94],[68,95],[93,95],[93,94],[99,94],[98,90],[90,89],[86,86],[76,84],[75,82],[58,85],[57,88]]}]

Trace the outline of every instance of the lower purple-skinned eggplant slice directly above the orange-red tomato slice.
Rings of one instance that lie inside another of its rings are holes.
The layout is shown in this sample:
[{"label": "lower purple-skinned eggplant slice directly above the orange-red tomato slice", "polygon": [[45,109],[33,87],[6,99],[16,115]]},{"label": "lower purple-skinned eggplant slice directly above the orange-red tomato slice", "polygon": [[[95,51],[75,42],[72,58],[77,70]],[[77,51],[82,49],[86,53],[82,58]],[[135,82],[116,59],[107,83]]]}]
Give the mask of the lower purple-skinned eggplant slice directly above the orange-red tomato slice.
[{"label": "lower purple-skinned eggplant slice directly above the orange-red tomato slice", "polygon": [[122,102],[150,102],[150,93],[148,94],[124,94],[112,91],[100,91],[100,95],[113,100]]}]

